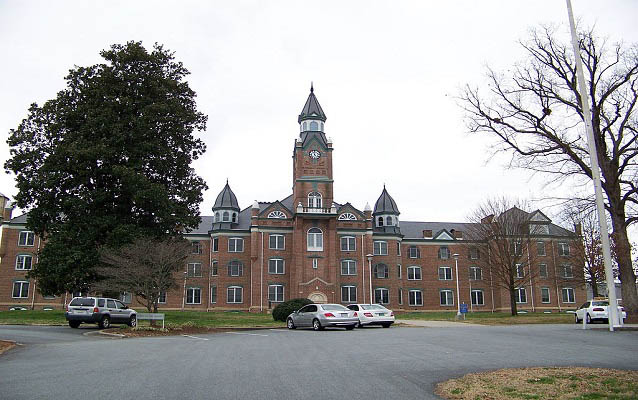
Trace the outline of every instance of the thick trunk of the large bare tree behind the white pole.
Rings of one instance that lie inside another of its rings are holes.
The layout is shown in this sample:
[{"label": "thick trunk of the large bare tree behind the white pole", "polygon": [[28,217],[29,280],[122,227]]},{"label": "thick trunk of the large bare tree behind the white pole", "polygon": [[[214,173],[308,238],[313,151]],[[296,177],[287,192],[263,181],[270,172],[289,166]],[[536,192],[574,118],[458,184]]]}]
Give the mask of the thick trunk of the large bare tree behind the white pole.
[{"label": "thick trunk of the large bare tree behind the white pole", "polygon": [[636,292],[636,273],[631,263],[631,245],[624,224],[625,218],[624,215],[622,218],[612,215],[611,220],[620,272],[622,303],[627,312],[627,322],[635,322],[638,321],[638,292]]}]

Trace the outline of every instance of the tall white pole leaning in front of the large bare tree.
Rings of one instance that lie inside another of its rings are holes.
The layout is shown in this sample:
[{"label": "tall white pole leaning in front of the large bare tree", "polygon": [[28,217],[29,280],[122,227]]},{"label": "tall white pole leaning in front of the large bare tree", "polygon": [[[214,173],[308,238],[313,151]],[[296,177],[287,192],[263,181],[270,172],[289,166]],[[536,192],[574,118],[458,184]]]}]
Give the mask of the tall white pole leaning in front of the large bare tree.
[{"label": "tall white pole leaning in front of the large bare tree", "polygon": [[[607,279],[607,290],[609,292],[609,330],[614,331],[614,325],[620,324],[618,321],[618,301],[616,300],[616,285],[614,273],[611,269],[611,251],[609,248],[609,230],[607,228],[607,216],[605,215],[605,205],[603,203],[603,191],[600,183],[600,168],[598,166],[598,156],[596,153],[596,143],[594,142],[594,130],[591,125],[591,114],[589,110],[589,98],[587,97],[587,87],[585,86],[585,76],[583,65],[580,59],[580,49],[578,47],[578,37],[576,36],[576,24],[574,23],[574,13],[572,3],[567,1],[567,14],[569,16],[569,27],[572,34],[572,46],[574,48],[574,59],[576,60],[576,72],[578,73],[578,86],[580,90],[581,105],[583,108],[583,119],[587,130],[587,142],[589,144],[589,158],[591,160],[591,174],[594,180],[594,192],[596,193],[596,209],[598,210],[598,223],[600,224],[600,238],[603,244],[603,260],[605,262],[605,278]],[[585,316],[583,316],[585,318]]]}]

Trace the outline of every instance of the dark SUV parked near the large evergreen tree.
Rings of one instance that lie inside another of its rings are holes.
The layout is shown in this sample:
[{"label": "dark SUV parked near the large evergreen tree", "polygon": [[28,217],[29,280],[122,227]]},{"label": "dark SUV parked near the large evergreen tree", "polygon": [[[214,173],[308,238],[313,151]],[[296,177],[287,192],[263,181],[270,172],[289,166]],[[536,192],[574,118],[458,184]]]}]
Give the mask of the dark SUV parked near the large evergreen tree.
[{"label": "dark SUV parked near the large evergreen tree", "polygon": [[64,317],[71,328],[81,323],[97,323],[100,328],[111,324],[137,325],[137,312],[119,300],[105,297],[74,297],[69,303]]}]

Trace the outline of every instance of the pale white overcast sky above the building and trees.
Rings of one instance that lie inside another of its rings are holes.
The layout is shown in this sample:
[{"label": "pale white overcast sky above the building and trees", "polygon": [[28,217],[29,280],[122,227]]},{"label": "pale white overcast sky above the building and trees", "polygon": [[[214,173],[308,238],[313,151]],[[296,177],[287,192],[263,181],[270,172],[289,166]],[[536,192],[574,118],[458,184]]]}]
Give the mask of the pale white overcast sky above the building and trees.
[{"label": "pale white overcast sky above the building and trees", "polygon": [[[573,6],[600,35],[638,42],[638,1]],[[490,196],[570,191],[505,169],[505,158],[488,162],[490,142],[467,133],[454,99],[485,82],[486,65],[521,60],[517,40],[547,23],[568,34],[565,1],[0,0],[0,161],[9,130],[64,88],[70,68],[101,62],[114,43],[158,42],[190,70],[209,117],[194,164],[209,186],[203,215],[227,178],[242,208],[291,193],[297,116],[313,81],[334,141],[337,202],[374,206],[385,183],[404,221],[464,221]],[[0,175],[0,192],[14,196],[13,176]]]}]

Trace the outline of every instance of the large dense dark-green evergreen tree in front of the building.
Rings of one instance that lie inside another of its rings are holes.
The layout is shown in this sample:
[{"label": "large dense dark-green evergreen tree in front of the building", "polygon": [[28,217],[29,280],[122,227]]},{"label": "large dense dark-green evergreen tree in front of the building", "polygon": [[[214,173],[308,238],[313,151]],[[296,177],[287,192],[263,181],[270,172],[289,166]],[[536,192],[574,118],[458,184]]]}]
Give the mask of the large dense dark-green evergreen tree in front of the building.
[{"label": "large dense dark-green evergreen tree in front of the building", "polygon": [[66,88],[11,130],[7,172],[27,227],[46,240],[30,276],[40,291],[87,289],[102,246],[196,227],[206,183],[191,168],[206,128],[188,70],[172,52],[113,45],[75,67]]}]

